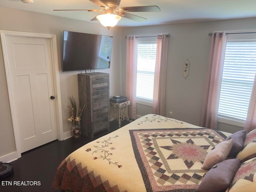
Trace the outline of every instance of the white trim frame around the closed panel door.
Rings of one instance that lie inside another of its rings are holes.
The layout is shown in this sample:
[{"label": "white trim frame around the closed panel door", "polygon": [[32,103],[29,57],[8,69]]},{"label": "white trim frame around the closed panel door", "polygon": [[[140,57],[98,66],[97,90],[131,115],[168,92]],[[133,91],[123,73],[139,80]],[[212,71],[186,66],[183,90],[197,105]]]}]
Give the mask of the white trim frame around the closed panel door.
[{"label": "white trim frame around the closed panel door", "polygon": [[7,57],[7,48],[6,48],[6,37],[7,36],[15,36],[15,37],[28,37],[28,38],[42,38],[50,40],[50,52],[52,54],[52,72],[53,72],[53,85],[55,92],[55,108],[56,108],[56,120],[57,120],[57,132],[58,132],[58,140],[63,140],[63,124],[62,124],[62,108],[61,108],[61,98],[60,98],[60,78],[59,78],[59,68],[58,68],[58,52],[57,52],[57,40],[56,35],[52,34],[38,34],[38,33],[30,33],[30,32],[17,32],[17,31],[7,31],[0,30],[1,41],[2,41],[2,50],[4,55],[4,66],[6,72],[6,81],[7,88],[9,94],[10,101],[10,109],[12,115],[12,124],[14,130],[14,139],[16,144],[16,158],[21,157],[20,153],[20,144],[18,139],[18,130],[16,126],[16,118],[14,114],[14,103],[13,103],[13,94],[11,90],[11,82],[10,82],[10,69]]}]

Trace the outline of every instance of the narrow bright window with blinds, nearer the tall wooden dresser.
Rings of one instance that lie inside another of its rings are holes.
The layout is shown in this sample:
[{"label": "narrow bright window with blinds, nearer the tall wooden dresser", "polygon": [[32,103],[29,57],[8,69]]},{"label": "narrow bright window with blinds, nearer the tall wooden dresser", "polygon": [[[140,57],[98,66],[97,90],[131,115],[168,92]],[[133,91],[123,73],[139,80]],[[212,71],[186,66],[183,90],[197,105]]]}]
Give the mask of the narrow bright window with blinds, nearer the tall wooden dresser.
[{"label": "narrow bright window with blinds, nearer the tall wooden dresser", "polygon": [[138,42],[136,98],[138,103],[153,102],[156,42]]}]

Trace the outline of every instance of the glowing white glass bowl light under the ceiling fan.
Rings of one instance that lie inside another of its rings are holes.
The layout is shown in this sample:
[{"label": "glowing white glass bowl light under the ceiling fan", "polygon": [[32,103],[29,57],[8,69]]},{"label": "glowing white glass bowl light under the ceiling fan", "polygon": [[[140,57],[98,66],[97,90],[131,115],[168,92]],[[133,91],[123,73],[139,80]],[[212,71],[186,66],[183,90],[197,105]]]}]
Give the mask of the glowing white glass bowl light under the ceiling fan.
[{"label": "glowing white glass bowl light under the ceiling fan", "polygon": [[106,28],[110,28],[110,27],[116,26],[118,21],[121,19],[121,17],[119,15],[110,14],[110,13],[100,14],[100,15],[96,16],[96,18]]}]

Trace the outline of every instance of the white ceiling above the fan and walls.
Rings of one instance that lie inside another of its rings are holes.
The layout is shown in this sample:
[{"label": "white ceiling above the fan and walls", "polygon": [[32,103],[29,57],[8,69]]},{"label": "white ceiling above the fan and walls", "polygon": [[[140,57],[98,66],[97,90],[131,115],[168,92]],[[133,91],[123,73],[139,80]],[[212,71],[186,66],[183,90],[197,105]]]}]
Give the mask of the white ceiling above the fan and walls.
[{"label": "white ceiling above the fan and walls", "polygon": [[[150,5],[158,6],[161,12],[131,12],[147,20],[136,22],[122,18],[117,26],[146,26],[256,17],[256,0],[121,0],[120,2],[120,7]],[[0,6],[87,22],[98,22],[90,20],[99,13],[103,13],[53,11],[54,9],[99,9],[99,6],[89,0],[34,0],[32,4],[22,3],[21,0],[0,0]]]}]

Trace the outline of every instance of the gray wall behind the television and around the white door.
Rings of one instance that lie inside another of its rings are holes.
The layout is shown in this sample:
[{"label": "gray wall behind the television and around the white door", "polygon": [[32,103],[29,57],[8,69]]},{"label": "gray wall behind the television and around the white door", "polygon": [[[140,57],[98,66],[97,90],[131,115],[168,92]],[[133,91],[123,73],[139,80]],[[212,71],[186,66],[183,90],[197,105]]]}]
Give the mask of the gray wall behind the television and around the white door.
[{"label": "gray wall behind the television and around the white door", "polygon": [[[0,7],[0,30],[33,32],[42,34],[55,34],[57,37],[58,62],[60,70],[60,91],[62,101],[62,121],[63,132],[70,130],[70,122],[68,122],[67,104],[68,96],[73,95],[78,98],[77,72],[62,72],[62,38],[63,30],[85,32],[93,34],[107,35],[107,28],[100,25],[99,22],[82,22],[70,20],[46,14],[38,14],[35,12],[26,12]],[[116,95],[120,92],[119,78],[120,57],[119,37],[116,35],[116,29],[110,29],[109,34],[113,38],[113,53],[110,69],[97,70],[98,72],[106,72],[110,74],[110,94]],[[10,112],[10,102],[8,98],[8,89],[6,83],[6,74],[4,68],[4,59],[2,54],[2,45],[0,45],[0,160],[1,157],[16,151],[14,140],[14,132],[12,127],[12,118]],[[29,117],[28,117],[29,118]]]}]

